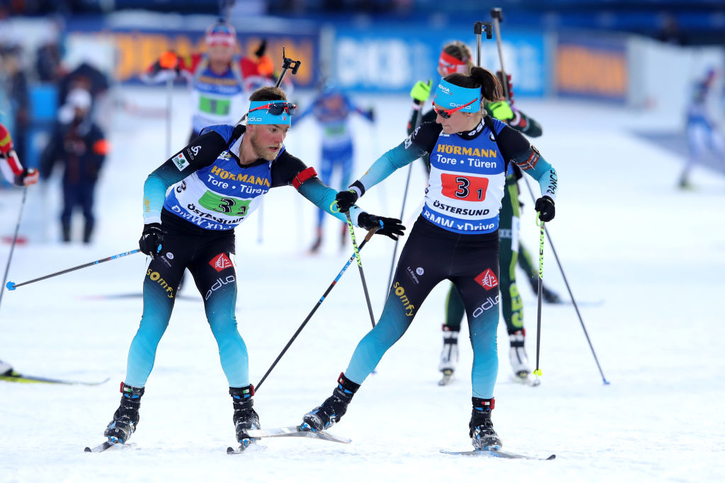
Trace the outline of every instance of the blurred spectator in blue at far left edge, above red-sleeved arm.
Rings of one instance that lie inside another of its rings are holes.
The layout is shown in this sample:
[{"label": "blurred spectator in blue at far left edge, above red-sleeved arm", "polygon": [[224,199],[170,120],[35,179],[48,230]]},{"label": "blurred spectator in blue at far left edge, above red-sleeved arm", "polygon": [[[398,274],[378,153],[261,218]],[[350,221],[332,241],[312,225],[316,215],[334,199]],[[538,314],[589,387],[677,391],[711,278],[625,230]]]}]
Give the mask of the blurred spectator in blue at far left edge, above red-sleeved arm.
[{"label": "blurred spectator in blue at far left edge, above red-sleeved arm", "polygon": [[6,46],[0,49],[0,89],[9,99],[14,132],[15,151],[20,159],[25,159],[25,141],[30,125],[28,77],[22,70],[22,51],[19,46]]}]

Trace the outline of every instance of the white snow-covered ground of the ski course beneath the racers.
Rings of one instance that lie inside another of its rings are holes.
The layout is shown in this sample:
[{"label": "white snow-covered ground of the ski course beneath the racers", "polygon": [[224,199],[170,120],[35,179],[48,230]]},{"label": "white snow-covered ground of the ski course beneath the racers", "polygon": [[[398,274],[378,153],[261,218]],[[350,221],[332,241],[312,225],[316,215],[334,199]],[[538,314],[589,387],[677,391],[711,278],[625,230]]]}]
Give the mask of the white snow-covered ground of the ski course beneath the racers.
[{"label": "white snow-covered ground of the ski course beneath the racers", "polygon": [[[159,89],[125,88],[118,95],[149,108],[165,102]],[[188,135],[186,91],[179,89],[174,99],[173,144],[182,146]],[[358,100],[376,105],[378,123],[371,130],[355,121],[356,176],[403,139],[409,112],[406,98]],[[683,160],[629,133],[669,127],[667,113],[557,100],[519,104],[544,126],[536,144],[560,177],[550,235],[611,382],[602,384],[571,306],[544,305],[543,376],[536,388],[509,382],[508,340],[500,324],[494,426],[505,449],[556,453],[555,461],[439,454],[441,448],[471,448],[471,350],[465,337],[458,378],[448,387],[436,385],[445,283],[334,427],[352,444],[265,440],[265,450],[233,457],[225,454],[234,442],[228,385],[201,298],[188,284],[182,293],[194,299],[176,303],[133,445],[83,453],[86,445],[103,441],[117,408],[118,382],[141,315],[141,298],[96,296],[141,292],[146,261],[137,254],[4,294],[0,358],[26,374],[111,380],[96,387],[0,382],[0,482],[723,481],[725,390],[718,371],[725,340],[725,180],[700,169],[692,178],[697,190],[676,190]],[[30,243],[17,246],[9,280],[19,283],[136,248],[142,185],[166,157],[165,124],[163,118],[119,112],[113,125],[94,243],[55,242],[57,182],[30,188],[21,230]],[[293,128],[286,144],[315,164],[318,143],[318,128],[308,120]],[[422,167],[414,165],[412,173],[405,215],[411,219],[424,186]],[[370,190],[363,208],[399,214],[406,174],[399,170]],[[522,236],[533,251],[533,203],[522,190]],[[0,192],[0,234],[12,235],[19,204],[19,192]],[[307,256],[315,216],[293,188],[279,188],[237,230],[237,319],[255,384],[351,253],[349,246],[339,250],[341,224],[330,218],[323,253]],[[362,252],[376,315],[392,248],[390,240],[377,237]],[[4,267],[9,245],[0,251]],[[544,277],[566,295],[548,243]],[[535,296],[528,284],[521,287],[533,361]],[[297,424],[328,397],[369,328],[360,277],[351,266],[260,387],[254,400],[262,425]]]}]

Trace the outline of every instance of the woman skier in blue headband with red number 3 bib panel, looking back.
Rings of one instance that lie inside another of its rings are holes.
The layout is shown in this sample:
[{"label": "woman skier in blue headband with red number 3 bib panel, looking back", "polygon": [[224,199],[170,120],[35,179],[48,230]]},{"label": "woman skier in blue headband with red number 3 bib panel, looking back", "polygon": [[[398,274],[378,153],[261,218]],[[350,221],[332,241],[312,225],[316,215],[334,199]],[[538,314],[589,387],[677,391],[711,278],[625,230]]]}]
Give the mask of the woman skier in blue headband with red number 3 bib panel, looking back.
[{"label": "woman skier in blue headband with red number 3 bib panel, looking back", "polygon": [[416,128],[350,190],[336,196],[339,209],[349,209],[395,169],[431,155],[426,203],[402,249],[383,314],[357,344],[333,394],[303,416],[300,429],[321,431],[339,421],[365,378],[410,326],[428,293],[442,280],[450,280],[468,314],[473,345],[469,434],[475,448],[501,448],[491,410],[498,374],[498,228],[506,172],[513,163],[539,182],[542,197],[536,209],[544,222],[554,218],[557,175],[521,133],[484,117],[484,104],[500,98],[501,85],[488,70],[473,67],[470,74],[447,75],[436,88],[436,122]]}]

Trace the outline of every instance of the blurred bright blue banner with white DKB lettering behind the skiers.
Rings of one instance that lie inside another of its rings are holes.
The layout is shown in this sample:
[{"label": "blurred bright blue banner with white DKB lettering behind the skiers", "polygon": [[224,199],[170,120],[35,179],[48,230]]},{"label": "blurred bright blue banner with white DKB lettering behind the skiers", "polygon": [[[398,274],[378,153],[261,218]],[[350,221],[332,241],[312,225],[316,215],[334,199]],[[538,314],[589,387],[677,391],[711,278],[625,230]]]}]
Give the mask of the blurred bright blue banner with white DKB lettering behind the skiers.
[{"label": "blurred bright blue banner with white DKB lettering behind the skiers", "polygon": [[[418,80],[439,79],[439,54],[446,43],[454,40],[467,43],[476,62],[473,22],[471,28],[444,30],[336,25],[333,73],[339,85],[348,91],[407,92]],[[544,96],[551,65],[544,34],[506,31],[502,46],[515,95]],[[481,41],[481,64],[494,72],[500,69],[496,42],[486,40],[485,35]]]}]

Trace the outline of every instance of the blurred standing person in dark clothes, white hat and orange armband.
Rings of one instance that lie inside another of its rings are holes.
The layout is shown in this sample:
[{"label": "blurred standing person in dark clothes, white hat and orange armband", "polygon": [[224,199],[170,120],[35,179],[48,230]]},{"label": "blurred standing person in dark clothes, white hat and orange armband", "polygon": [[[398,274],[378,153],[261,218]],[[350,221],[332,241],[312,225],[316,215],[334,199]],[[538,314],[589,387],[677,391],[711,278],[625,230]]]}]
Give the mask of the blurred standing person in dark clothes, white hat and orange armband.
[{"label": "blurred standing person in dark clothes, white hat and orange armband", "polygon": [[58,121],[43,151],[41,178],[50,177],[57,161],[65,164],[60,216],[63,241],[70,241],[72,211],[80,206],[86,219],[83,243],[89,243],[95,225],[94,190],[108,152],[104,134],[91,119],[91,93],[81,88],[72,89],[66,104],[59,109]]}]

